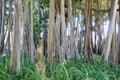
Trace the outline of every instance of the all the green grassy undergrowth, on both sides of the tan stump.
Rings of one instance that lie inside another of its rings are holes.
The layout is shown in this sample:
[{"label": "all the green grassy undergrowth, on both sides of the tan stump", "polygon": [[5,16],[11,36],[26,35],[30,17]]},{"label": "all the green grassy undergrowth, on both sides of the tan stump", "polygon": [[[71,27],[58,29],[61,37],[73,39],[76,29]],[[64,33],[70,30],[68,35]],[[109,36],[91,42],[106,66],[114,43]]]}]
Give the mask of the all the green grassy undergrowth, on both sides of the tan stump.
[{"label": "all the green grassy undergrowth, on both sides of the tan stump", "polygon": [[[107,66],[100,62],[100,56],[94,57],[94,62],[84,63],[80,60],[69,60],[60,63],[54,60],[49,64],[46,60],[45,80],[120,80],[120,65]],[[0,80],[41,80],[42,75],[35,73],[35,64],[29,61],[21,61],[21,70],[17,74],[9,71],[10,58],[6,64],[0,58]]]}]

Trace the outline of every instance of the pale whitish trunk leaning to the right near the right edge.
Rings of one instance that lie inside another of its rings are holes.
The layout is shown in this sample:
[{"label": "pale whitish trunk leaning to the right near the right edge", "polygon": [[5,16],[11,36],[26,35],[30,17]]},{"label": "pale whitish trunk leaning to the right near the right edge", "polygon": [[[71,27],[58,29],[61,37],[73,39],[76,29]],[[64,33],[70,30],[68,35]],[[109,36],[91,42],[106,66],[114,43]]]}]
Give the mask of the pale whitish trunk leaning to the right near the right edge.
[{"label": "pale whitish trunk leaning to the right near the right edge", "polygon": [[116,12],[117,12],[117,3],[118,0],[113,0],[113,5],[110,13],[110,22],[109,22],[109,31],[107,34],[107,39],[103,47],[103,57],[104,60],[108,63],[109,60],[109,53],[110,53],[110,47],[112,42],[113,33],[115,31],[115,19],[116,19]]}]

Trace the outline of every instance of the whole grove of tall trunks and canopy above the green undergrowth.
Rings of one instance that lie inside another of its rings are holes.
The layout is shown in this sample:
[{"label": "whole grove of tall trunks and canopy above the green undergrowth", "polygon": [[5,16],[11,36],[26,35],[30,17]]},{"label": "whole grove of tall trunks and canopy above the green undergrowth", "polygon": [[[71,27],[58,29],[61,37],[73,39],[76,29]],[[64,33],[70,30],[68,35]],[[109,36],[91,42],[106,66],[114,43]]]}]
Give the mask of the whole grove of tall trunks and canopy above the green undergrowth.
[{"label": "whole grove of tall trunks and canopy above the green undergrowth", "polygon": [[10,73],[29,62],[45,75],[46,61],[95,64],[97,56],[120,63],[120,0],[0,0],[0,58]]}]

